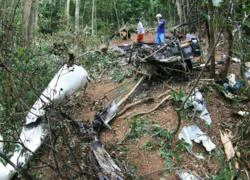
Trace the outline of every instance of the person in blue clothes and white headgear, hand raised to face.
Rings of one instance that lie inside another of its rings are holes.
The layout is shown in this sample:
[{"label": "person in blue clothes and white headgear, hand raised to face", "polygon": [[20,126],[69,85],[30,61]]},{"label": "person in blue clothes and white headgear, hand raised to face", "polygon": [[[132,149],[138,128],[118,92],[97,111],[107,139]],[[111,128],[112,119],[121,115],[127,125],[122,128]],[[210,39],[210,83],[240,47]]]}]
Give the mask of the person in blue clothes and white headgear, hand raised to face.
[{"label": "person in blue clothes and white headgear, hand raised to face", "polygon": [[157,27],[156,27],[156,36],[155,43],[161,45],[165,41],[165,20],[162,18],[161,14],[156,15]]}]

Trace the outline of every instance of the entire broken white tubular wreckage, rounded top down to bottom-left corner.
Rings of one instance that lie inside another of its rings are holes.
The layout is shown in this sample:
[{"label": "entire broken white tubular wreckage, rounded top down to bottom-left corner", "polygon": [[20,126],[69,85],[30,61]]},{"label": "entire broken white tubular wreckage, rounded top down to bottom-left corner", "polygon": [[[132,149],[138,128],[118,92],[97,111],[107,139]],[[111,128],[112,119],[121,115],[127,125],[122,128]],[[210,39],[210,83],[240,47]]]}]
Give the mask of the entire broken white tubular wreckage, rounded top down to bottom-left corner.
[{"label": "entire broken white tubular wreckage, rounded top down to bottom-left corner", "polygon": [[[16,167],[22,168],[45,140],[48,133],[46,124],[37,122],[38,117],[45,114],[45,106],[61,102],[80,88],[86,87],[87,81],[88,74],[81,66],[68,67],[64,65],[58,71],[26,116],[26,125],[35,122],[36,124],[22,128],[18,147],[10,158]],[[9,180],[15,173],[16,169],[12,165],[4,166],[0,162],[0,180]]]}]

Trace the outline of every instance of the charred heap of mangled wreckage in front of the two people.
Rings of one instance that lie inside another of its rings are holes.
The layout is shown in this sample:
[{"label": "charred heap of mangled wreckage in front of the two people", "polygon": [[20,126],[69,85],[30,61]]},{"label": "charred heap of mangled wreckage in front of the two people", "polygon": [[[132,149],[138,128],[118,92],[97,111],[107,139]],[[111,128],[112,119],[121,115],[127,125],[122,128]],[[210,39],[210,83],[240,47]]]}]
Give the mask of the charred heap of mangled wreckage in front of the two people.
[{"label": "charred heap of mangled wreckage in front of the two people", "polygon": [[201,55],[199,40],[194,35],[187,35],[185,41],[177,37],[166,40],[166,44],[135,43],[115,47],[112,51],[118,51],[121,61],[131,63],[140,72],[151,76],[166,77],[178,72],[185,74],[193,69],[192,60]]}]

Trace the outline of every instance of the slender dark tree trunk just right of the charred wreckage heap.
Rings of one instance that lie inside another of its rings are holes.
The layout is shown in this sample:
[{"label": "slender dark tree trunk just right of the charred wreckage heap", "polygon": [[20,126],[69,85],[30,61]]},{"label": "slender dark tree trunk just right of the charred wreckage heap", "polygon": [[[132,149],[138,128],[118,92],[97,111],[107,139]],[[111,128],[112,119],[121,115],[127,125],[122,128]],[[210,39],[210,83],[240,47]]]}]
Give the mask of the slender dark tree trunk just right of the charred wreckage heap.
[{"label": "slender dark tree trunk just right of the charred wreckage heap", "polygon": [[211,69],[210,77],[215,77],[215,32],[214,32],[214,7],[213,1],[208,0],[208,25],[209,25],[209,45],[208,45],[208,54],[211,56]]}]

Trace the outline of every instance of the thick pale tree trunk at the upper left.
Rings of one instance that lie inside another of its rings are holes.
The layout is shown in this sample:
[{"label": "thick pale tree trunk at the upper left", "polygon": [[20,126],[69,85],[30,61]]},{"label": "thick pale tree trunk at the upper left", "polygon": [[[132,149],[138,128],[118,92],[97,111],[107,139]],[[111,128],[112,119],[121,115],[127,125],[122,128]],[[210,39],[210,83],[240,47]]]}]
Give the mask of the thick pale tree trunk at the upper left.
[{"label": "thick pale tree trunk at the upper left", "polygon": [[36,0],[25,0],[23,8],[23,45],[30,47],[36,25]]}]

